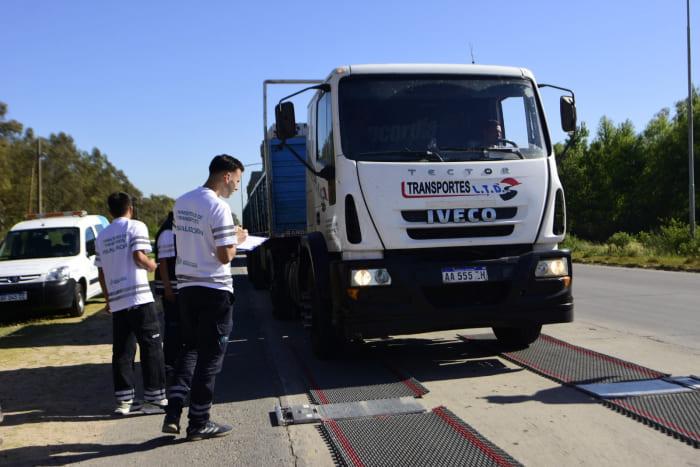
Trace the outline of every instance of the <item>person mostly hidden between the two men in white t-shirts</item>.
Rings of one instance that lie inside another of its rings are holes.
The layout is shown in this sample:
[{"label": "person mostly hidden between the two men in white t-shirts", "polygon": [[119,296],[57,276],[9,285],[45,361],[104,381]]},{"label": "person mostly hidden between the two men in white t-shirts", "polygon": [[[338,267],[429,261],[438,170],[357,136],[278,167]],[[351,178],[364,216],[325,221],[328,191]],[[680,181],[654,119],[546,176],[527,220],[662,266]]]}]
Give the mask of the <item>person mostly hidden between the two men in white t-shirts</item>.
[{"label": "person mostly hidden between the two men in white t-shirts", "polygon": [[158,268],[156,269],[154,285],[156,295],[161,297],[163,304],[163,354],[165,357],[165,381],[172,382],[175,371],[175,361],[182,347],[180,339],[180,310],[177,306],[177,278],[175,277],[175,235],[173,234],[173,212],[168,213],[163,224],[156,233],[154,250]]}]

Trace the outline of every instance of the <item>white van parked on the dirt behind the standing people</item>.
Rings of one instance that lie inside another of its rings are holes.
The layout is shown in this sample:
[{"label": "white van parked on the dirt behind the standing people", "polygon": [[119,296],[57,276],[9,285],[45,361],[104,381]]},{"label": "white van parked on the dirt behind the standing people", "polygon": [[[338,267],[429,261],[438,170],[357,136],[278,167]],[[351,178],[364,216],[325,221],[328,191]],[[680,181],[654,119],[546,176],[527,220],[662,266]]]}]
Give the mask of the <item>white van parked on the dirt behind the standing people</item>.
[{"label": "white van parked on the dirt behind the standing people", "polygon": [[0,246],[0,310],[70,310],[102,293],[95,239],[109,225],[85,211],[32,214]]}]

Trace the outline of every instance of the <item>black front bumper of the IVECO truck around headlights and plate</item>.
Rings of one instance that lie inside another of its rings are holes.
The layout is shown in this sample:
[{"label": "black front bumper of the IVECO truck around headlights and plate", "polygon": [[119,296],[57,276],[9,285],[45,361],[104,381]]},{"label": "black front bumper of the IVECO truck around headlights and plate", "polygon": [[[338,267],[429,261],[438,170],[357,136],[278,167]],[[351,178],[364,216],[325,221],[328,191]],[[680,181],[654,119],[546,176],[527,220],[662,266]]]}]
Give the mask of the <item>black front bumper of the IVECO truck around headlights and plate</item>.
[{"label": "black front bumper of the IVECO truck around headlights and plate", "polygon": [[[347,336],[379,337],[470,327],[518,326],[573,321],[571,283],[536,279],[540,259],[567,258],[566,250],[526,252],[495,259],[466,259],[459,249],[385,255],[383,260],[331,264],[335,303]],[[443,284],[442,268],[486,266],[487,282]],[[348,293],[353,269],[386,268],[392,283]]]}]

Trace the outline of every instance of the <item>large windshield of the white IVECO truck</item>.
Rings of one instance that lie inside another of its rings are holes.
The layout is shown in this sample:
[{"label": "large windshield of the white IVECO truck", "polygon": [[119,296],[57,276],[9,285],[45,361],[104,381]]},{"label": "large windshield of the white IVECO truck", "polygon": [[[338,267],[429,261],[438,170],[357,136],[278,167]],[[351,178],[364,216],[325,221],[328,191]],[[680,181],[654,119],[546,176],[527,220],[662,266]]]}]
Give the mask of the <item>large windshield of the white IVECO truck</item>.
[{"label": "large windshield of the white IVECO truck", "polygon": [[391,162],[533,159],[547,155],[527,79],[350,75],[338,91],[345,157]]}]

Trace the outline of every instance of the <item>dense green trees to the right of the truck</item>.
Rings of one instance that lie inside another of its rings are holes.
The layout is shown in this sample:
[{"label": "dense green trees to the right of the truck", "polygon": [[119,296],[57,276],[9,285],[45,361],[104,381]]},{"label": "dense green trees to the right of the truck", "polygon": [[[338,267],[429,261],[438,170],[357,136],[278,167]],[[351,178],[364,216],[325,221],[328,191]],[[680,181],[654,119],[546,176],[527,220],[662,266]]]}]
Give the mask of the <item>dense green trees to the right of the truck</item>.
[{"label": "dense green trees to the right of the truck", "polygon": [[[694,121],[700,122],[700,102],[694,102]],[[618,231],[654,231],[662,219],[687,219],[687,114],[686,101],[680,101],[673,117],[662,109],[640,134],[630,122],[615,125],[603,117],[590,143],[583,126],[566,157],[557,160],[569,231],[602,242]],[[555,152],[560,155],[563,147],[556,145]],[[697,199],[696,193],[700,206]]]}]

